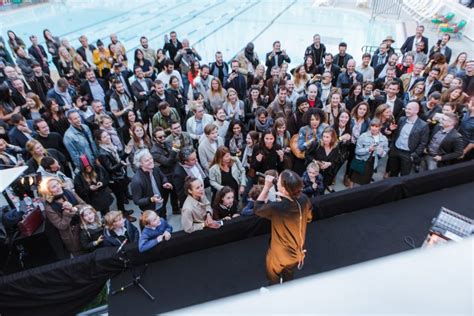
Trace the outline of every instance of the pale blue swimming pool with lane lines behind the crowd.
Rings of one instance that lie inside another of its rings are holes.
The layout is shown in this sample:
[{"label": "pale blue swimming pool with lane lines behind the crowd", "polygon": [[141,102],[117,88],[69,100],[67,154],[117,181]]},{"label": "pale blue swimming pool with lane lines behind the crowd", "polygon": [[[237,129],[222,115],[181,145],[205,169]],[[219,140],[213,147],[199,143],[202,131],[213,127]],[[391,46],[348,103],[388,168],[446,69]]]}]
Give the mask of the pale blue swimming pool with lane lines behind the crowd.
[{"label": "pale blue swimming pool with lane lines behind the crowd", "polygon": [[81,34],[90,43],[100,38],[107,44],[115,32],[131,59],[142,35],[156,49],[171,30],[180,39],[188,38],[205,62],[212,61],[217,50],[229,60],[249,41],[264,60],[278,39],[297,64],[315,33],[321,34],[329,52],[336,53],[338,43],[345,41],[348,53],[360,60],[363,45],[378,45],[387,35],[399,43],[404,36],[401,23],[370,21],[361,11],[313,7],[306,0],[65,0],[0,14],[4,38],[12,29],[28,42],[29,35],[42,38],[42,30],[49,28],[77,47]]}]

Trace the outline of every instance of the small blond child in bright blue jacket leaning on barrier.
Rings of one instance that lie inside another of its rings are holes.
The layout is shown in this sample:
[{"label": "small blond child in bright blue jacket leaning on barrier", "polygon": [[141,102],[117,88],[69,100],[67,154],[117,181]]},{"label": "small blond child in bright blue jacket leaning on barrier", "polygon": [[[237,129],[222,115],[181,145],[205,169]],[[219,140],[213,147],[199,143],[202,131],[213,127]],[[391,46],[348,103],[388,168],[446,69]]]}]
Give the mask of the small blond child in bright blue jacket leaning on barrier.
[{"label": "small blond child in bright blue jacket leaning on barrier", "polygon": [[173,227],[165,219],[160,218],[156,212],[143,212],[140,222],[144,226],[138,242],[140,252],[155,247],[163,240],[170,240]]}]

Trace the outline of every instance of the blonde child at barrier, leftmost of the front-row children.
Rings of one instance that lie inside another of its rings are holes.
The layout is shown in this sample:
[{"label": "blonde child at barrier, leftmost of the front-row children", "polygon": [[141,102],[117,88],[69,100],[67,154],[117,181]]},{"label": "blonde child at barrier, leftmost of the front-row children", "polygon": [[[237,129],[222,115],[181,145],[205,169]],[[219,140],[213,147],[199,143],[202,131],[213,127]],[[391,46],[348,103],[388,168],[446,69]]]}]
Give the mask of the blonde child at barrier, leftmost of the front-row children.
[{"label": "blonde child at barrier, leftmost of the front-row children", "polygon": [[82,249],[92,252],[102,246],[104,227],[99,213],[89,204],[76,206],[81,217],[80,240]]}]

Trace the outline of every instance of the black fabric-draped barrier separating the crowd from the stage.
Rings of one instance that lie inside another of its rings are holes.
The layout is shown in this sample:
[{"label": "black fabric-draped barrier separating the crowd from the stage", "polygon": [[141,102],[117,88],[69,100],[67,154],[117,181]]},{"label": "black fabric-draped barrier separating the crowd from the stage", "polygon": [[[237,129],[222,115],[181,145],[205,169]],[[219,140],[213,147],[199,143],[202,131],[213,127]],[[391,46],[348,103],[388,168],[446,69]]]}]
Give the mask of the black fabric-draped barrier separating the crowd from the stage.
[{"label": "black fabric-draped barrier separating the crowd from the stage", "polygon": [[[436,182],[430,186],[431,181],[427,181],[429,174],[435,175],[438,181],[442,179],[442,182]],[[420,185],[416,185],[418,178]],[[471,161],[423,174],[388,179],[336,192],[316,200],[315,219],[353,212],[402,199],[413,192],[422,194],[429,192],[428,190],[432,188],[454,186],[471,182],[473,179],[474,161]],[[407,192],[408,189],[404,188],[405,182],[406,186],[413,187],[411,189],[413,191]],[[439,206],[434,212],[438,209]],[[133,245],[128,245],[126,248],[134,264],[138,265],[157,260],[171,260],[191,252],[206,251],[207,248],[249,239],[268,233],[269,228],[269,222],[264,219],[254,216],[239,217],[226,223],[217,231],[205,230],[191,235],[184,232],[175,233],[170,241],[143,254],[139,254]],[[268,240],[268,237],[263,238]],[[46,312],[48,315],[64,315],[77,312],[100,291],[108,278],[121,271],[122,262],[115,255],[115,251],[116,249],[98,249],[89,255],[2,277],[0,279],[0,313],[2,315],[31,315],[31,311],[36,310],[37,315],[46,314]],[[245,258],[246,254],[244,251],[235,255]],[[218,262],[213,264],[220,265]],[[263,271],[263,262],[259,263],[259,267]],[[180,278],[179,274],[173,277]],[[238,275],[234,277],[239,278]],[[219,276],[216,275],[216,278],[218,279]]]}]

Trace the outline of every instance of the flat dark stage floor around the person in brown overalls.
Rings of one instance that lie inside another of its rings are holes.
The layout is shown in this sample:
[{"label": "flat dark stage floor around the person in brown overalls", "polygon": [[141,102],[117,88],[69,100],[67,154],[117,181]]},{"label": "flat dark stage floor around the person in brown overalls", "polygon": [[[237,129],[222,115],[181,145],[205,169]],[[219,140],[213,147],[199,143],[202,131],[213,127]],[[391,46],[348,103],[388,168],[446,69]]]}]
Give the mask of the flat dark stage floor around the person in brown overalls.
[{"label": "flat dark stage floor around the person in brown overalls", "polygon": [[[407,251],[412,249],[412,240],[413,247],[420,247],[440,206],[474,218],[472,192],[474,183],[463,184],[315,221],[307,230],[304,268],[295,277]],[[156,301],[149,300],[138,288],[131,288],[109,296],[109,314],[156,315],[267,286],[268,241],[268,235],[256,236],[154,262],[144,273],[143,285],[156,296]],[[403,284],[404,272],[399,274]],[[384,281],[383,275],[369,277]],[[112,279],[112,288],[129,281],[127,271]],[[363,291],[364,285],[360,284],[360,288]],[[318,306],[308,306],[307,313],[317,314]]]}]

